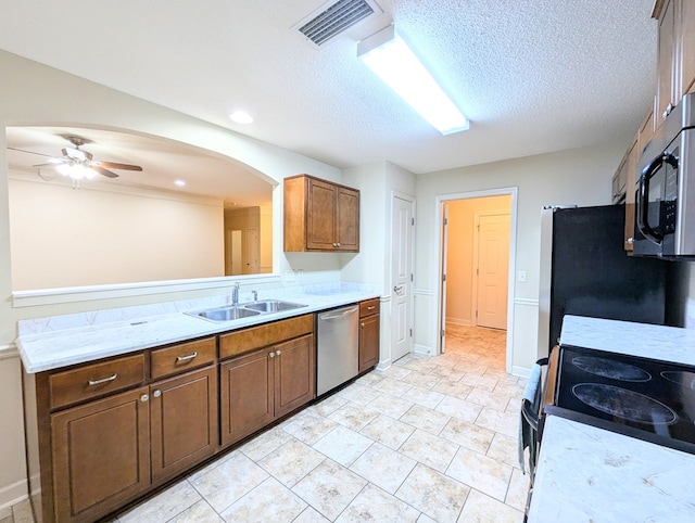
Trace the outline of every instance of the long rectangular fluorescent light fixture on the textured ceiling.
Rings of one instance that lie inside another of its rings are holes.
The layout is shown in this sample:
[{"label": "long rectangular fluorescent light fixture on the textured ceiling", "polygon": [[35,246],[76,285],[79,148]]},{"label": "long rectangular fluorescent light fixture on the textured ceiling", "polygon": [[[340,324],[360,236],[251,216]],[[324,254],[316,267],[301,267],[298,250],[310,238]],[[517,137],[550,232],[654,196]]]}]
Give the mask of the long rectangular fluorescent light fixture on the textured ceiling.
[{"label": "long rectangular fluorescent light fixture on the textured ceiling", "polygon": [[468,129],[468,119],[392,25],[357,44],[357,56],[442,135]]}]

